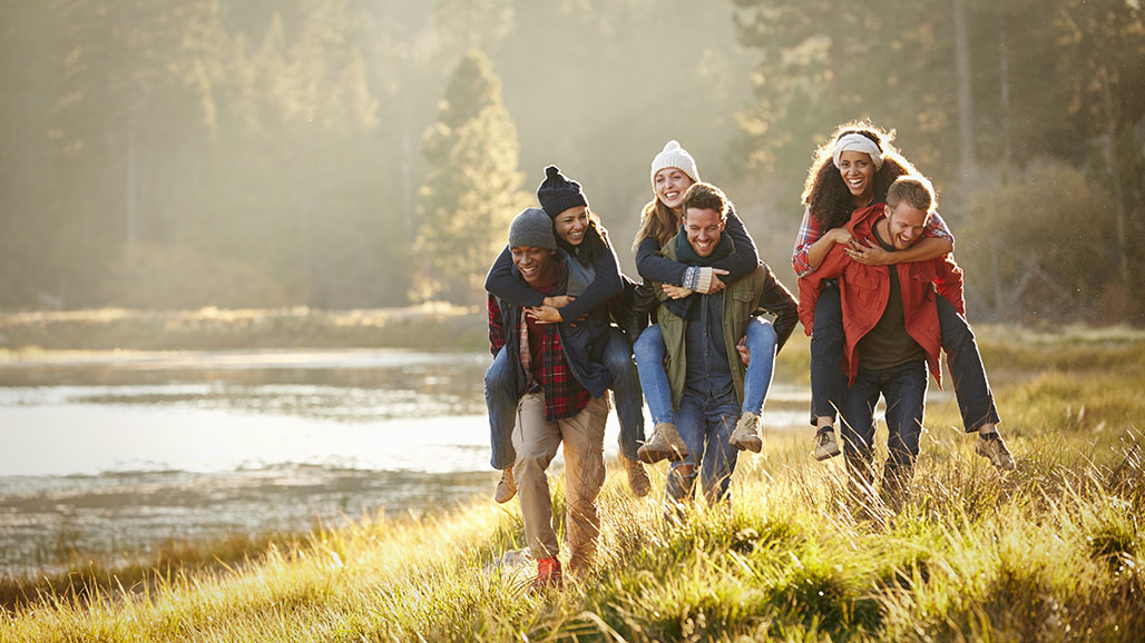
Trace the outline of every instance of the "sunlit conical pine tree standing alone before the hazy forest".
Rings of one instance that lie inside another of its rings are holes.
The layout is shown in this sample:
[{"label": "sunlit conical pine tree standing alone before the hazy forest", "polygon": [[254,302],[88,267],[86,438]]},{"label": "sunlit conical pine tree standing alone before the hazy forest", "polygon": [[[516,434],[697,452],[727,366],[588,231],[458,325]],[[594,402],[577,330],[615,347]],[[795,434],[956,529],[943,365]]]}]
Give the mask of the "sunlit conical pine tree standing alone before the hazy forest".
[{"label": "sunlit conical pine tree standing alone before the hazy forest", "polygon": [[488,58],[471,51],[455,68],[423,144],[414,300],[477,304],[508,222],[530,198],[521,191],[516,128]]}]

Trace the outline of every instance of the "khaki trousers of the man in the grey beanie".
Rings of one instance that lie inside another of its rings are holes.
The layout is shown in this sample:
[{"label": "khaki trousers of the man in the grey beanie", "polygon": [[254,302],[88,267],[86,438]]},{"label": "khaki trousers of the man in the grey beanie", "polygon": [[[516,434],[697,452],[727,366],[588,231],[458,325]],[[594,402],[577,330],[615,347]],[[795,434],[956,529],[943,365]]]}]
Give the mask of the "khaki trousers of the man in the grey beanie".
[{"label": "khaki trousers of the man in the grey beanie", "polygon": [[560,553],[545,469],[563,442],[566,532],[571,551],[569,571],[574,573],[586,569],[597,551],[600,534],[597,497],[605,484],[607,418],[607,396],[590,399],[579,413],[555,422],[545,420],[542,392],[526,394],[518,405],[516,426],[513,427],[516,448],[513,477],[521,502],[524,537],[537,559],[552,558]]}]

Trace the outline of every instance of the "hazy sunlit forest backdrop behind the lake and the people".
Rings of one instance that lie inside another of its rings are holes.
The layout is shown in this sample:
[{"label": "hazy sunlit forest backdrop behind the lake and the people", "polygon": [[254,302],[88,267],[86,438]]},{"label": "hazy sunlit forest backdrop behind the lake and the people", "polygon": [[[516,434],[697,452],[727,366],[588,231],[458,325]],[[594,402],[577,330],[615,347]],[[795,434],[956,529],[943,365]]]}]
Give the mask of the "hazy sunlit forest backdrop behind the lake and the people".
[{"label": "hazy sunlit forest backdrop behind the lake and the people", "polygon": [[0,0],[0,307],[480,301],[547,164],[631,272],[669,138],[784,270],[867,117],[941,191],[971,313],[1140,323],[1132,0]]}]

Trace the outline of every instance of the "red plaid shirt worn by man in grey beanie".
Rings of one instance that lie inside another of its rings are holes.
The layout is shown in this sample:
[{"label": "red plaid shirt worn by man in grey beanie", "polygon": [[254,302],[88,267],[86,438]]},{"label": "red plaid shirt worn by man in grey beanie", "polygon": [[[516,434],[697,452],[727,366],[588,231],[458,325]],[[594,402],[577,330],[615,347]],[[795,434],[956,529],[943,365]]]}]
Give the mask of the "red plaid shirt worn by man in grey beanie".
[{"label": "red plaid shirt worn by man in grey beanie", "polygon": [[[551,294],[545,291],[540,292],[546,296]],[[497,355],[497,351],[511,340],[516,347],[528,346],[528,342],[521,341],[521,327],[526,326],[521,323],[521,307],[508,303],[506,305],[514,319],[513,328],[505,328],[500,302],[493,295],[489,295],[489,349],[493,355]],[[564,349],[561,347],[561,335],[558,332],[558,325],[543,324],[539,327],[543,333],[539,358],[543,365],[540,389],[545,394],[545,419],[552,422],[571,418],[589,404],[592,395],[581,386],[581,382],[577,381],[569,368],[568,362],[564,359]],[[516,352],[520,360],[522,357],[520,348],[518,348]],[[535,360],[536,357],[538,356],[530,356],[530,360]]]}]

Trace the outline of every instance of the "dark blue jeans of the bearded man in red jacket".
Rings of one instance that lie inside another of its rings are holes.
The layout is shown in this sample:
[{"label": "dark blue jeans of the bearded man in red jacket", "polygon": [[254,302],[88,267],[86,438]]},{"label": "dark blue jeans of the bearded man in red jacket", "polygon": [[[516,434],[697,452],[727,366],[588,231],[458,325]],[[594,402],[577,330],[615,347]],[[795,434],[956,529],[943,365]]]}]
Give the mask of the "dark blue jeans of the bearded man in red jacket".
[{"label": "dark blue jeans of the bearded man in red jacket", "polygon": [[889,434],[884,478],[914,466],[918,458],[927,383],[926,362],[922,359],[892,368],[859,366],[859,374],[839,407],[843,451],[852,474],[874,479],[869,474],[875,460],[875,405],[879,395],[886,399]]}]

